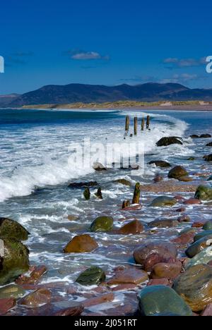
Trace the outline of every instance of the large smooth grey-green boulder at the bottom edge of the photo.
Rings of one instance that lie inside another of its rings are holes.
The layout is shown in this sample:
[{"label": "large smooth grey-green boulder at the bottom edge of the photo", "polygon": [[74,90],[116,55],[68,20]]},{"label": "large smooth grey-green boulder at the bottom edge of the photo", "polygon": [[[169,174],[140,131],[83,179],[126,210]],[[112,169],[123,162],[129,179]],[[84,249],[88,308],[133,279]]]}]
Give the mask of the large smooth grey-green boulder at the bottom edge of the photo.
[{"label": "large smooth grey-green boulder at the bottom edge of the photo", "polygon": [[143,316],[177,314],[192,316],[191,308],[168,286],[148,286],[139,295],[139,309]]}]

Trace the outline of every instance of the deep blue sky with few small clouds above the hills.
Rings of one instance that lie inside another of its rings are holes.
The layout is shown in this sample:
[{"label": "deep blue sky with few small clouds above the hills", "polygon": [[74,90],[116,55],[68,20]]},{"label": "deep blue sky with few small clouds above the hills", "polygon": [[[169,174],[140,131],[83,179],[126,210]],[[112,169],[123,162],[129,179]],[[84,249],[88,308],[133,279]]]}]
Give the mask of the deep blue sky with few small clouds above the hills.
[{"label": "deep blue sky with few small clouds above the hills", "polygon": [[211,87],[211,1],[1,2],[0,94],[71,82]]}]

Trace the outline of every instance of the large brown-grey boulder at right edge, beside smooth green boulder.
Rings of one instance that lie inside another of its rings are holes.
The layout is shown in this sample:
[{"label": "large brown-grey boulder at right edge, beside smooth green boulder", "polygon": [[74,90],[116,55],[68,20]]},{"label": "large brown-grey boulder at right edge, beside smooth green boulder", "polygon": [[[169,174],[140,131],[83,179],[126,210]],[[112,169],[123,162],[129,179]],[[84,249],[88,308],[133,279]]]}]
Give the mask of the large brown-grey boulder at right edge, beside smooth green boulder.
[{"label": "large brown-grey boulder at right edge, beside smooth green boulder", "polygon": [[182,296],[193,312],[201,312],[212,302],[212,269],[198,264],[178,277],[173,288]]}]

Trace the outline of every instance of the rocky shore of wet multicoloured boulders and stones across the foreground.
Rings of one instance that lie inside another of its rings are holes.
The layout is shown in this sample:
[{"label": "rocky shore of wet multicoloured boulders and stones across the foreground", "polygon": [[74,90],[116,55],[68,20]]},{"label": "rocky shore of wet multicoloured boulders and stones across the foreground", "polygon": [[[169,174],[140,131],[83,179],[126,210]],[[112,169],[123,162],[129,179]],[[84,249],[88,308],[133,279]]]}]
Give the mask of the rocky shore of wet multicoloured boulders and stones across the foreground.
[{"label": "rocky shore of wet multicoloured boulders and stones across the foreground", "polygon": [[[89,232],[78,230],[59,251],[95,255],[104,248],[100,237],[106,233],[116,236],[122,245],[118,250],[108,245],[105,254],[124,252],[123,263],[112,271],[105,271],[102,261],[99,267],[79,267],[73,284],[44,281],[50,269],[30,265],[27,228],[0,218],[4,247],[0,255],[0,315],[212,316],[211,135],[193,135],[192,139],[202,139],[206,151],[198,173],[152,159],[149,166],[158,168],[153,183],[136,183],[131,200],[120,200],[117,205],[121,226],[116,226],[109,212],[100,214],[90,221]],[[158,148],[182,144],[176,137],[164,137],[157,143]],[[107,173],[101,164],[95,164],[94,169],[102,176]],[[161,169],[167,169],[166,177]],[[113,184],[131,187],[125,178]],[[95,190],[97,201],[104,198],[97,181],[70,183],[69,188],[82,190],[86,202],[90,201],[90,190]],[[143,221],[146,208],[158,209],[158,218]],[[200,219],[196,219],[195,208],[202,210]],[[77,219],[69,215],[69,221]],[[116,302],[119,294],[124,294],[124,304]]]}]

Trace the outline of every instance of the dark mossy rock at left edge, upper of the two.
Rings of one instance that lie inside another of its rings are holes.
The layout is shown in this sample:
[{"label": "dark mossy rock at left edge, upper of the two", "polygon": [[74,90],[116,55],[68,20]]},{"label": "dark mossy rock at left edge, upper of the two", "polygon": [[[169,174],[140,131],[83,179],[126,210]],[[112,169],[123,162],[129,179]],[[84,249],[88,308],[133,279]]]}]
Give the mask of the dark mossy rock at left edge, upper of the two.
[{"label": "dark mossy rock at left edge, upper of the two", "polygon": [[16,240],[28,240],[28,231],[17,221],[0,218],[0,237],[15,238]]}]

